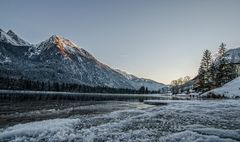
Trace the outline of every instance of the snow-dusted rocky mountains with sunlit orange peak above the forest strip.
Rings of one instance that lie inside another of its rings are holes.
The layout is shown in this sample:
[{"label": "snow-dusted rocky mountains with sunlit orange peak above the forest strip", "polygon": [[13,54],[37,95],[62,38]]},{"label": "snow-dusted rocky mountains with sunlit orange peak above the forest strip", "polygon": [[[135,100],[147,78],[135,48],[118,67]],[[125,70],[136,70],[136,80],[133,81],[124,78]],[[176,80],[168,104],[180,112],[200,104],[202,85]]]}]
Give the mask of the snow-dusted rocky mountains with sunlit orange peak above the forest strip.
[{"label": "snow-dusted rocky mountains with sunlit orange peak above the forest strip", "polygon": [[160,90],[166,85],[113,69],[58,35],[31,44],[0,29],[0,77],[113,88]]}]

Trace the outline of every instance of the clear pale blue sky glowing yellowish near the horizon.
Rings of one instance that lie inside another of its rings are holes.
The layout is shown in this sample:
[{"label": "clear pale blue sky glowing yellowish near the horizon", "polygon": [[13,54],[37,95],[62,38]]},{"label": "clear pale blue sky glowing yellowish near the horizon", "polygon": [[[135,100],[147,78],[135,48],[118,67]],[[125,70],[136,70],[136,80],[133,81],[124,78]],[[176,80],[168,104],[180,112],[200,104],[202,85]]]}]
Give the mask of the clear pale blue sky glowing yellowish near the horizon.
[{"label": "clear pale blue sky glowing yellowish near the horizon", "polygon": [[0,28],[31,43],[68,38],[103,63],[170,83],[202,52],[240,46],[240,0],[0,0]]}]

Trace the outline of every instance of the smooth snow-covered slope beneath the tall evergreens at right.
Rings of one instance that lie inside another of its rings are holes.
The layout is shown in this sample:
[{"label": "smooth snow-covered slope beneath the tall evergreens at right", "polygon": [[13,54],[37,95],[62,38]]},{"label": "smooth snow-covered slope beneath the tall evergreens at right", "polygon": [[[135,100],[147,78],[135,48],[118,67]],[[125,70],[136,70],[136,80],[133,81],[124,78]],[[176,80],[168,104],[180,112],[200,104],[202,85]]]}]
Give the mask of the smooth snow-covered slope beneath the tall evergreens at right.
[{"label": "smooth snow-covered slope beneath the tall evergreens at right", "polygon": [[202,97],[226,97],[226,98],[240,98],[240,77],[230,81],[222,87],[210,90],[201,95]]}]

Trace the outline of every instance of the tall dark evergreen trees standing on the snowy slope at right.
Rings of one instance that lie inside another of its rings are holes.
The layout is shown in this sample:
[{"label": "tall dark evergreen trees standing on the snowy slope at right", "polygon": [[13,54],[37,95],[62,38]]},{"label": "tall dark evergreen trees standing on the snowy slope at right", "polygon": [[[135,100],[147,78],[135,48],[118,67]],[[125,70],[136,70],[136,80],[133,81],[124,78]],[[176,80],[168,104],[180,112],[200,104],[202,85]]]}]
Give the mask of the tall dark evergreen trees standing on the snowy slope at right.
[{"label": "tall dark evergreen trees standing on the snowy slope at right", "polygon": [[194,89],[197,92],[206,92],[221,87],[237,77],[236,66],[224,57],[226,44],[222,43],[214,61],[211,51],[205,50],[198,70]]}]

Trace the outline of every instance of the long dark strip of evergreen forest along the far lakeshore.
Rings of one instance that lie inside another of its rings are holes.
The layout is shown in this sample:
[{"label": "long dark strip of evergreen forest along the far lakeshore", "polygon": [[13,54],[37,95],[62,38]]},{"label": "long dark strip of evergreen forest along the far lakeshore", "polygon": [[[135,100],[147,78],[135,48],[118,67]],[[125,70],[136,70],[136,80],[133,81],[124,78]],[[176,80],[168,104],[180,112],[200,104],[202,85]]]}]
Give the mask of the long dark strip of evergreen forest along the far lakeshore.
[{"label": "long dark strip of evergreen forest along the far lakeshore", "polygon": [[28,79],[14,79],[0,77],[0,89],[6,90],[31,90],[31,91],[57,91],[79,93],[114,93],[114,94],[150,94],[159,91],[149,91],[142,86],[139,90],[126,88],[111,88],[106,86],[88,86],[58,82],[40,82]]}]

